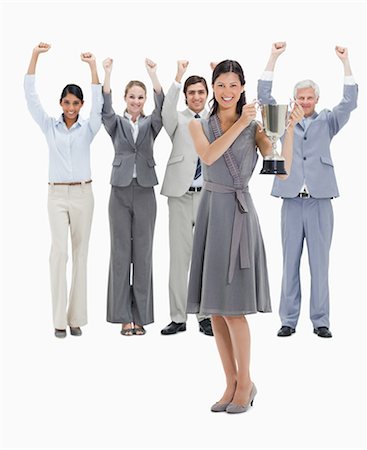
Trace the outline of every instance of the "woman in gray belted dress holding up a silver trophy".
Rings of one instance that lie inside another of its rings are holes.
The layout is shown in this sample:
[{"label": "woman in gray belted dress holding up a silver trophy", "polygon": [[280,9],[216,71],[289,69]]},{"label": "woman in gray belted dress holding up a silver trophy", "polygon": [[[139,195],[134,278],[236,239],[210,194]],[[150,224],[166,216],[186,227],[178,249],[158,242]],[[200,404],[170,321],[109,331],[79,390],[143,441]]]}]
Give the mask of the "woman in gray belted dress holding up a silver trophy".
[{"label": "woman in gray belted dress holding up a silver trophy", "polygon": [[[248,189],[257,148],[266,156],[271,142],[255,120],[256,104],[246,104],[245,78],[238,62],[216,65],[212,87],[209,118],[189,124],[203,162],[204,192],[196,221],[187,311],[212,315],[226,389],[211,410],[240,413],[252,405],[257,392],[250,377],[246,315],[271,311],[265,249]],[[302,114],[296,105],[284,138],[282,155],[288,173],[293,129]]]}]

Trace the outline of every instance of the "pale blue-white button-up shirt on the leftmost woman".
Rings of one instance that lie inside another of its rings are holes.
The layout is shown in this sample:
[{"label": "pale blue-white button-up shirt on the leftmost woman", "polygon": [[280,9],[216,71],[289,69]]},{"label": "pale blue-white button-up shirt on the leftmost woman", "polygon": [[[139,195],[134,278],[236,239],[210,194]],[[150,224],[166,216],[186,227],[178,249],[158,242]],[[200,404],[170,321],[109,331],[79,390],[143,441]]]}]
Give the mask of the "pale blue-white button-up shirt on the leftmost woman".
[{"label": "pale blue-white button-up shirt on the leftmost woman", "polygon": [[49,150],[49,182],[72,183],[91,179],[90,144],[102,124],[103,96],[100,84],[92,84],[92,108],[89,119],[67,128],[63,116],[58,119],[44,111],[35,87],[35,75],[26,74],[24,91],[28,109],[43,131]]}]

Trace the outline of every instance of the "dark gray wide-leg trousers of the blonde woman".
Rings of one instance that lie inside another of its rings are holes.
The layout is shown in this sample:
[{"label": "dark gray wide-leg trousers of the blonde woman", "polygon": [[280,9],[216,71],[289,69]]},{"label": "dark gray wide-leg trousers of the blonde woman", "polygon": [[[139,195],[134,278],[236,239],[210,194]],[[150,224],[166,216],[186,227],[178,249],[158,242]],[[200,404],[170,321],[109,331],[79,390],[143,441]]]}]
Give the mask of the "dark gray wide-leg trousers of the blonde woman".
[{"label": "dark gray wide-leg trousers of the blonde woman", "polygon": [[111,258],[107,321],[152,323],[152,247],[156,199],[152,187],[134,178],[127,187],[112,186],[109,202]]}]

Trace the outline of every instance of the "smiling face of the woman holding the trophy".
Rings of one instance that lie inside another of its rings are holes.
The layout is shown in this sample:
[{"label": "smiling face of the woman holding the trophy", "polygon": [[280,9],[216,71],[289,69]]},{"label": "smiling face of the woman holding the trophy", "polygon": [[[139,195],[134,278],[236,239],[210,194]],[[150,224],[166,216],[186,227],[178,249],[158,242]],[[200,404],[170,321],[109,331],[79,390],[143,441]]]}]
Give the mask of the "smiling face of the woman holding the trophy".
[{"label": "smiling face of the woman holding the trophy", "polygon": [[236,108],[243,90],[244,86],[234,72],[222,73],[213,84],[214,97],[222,109]]}]

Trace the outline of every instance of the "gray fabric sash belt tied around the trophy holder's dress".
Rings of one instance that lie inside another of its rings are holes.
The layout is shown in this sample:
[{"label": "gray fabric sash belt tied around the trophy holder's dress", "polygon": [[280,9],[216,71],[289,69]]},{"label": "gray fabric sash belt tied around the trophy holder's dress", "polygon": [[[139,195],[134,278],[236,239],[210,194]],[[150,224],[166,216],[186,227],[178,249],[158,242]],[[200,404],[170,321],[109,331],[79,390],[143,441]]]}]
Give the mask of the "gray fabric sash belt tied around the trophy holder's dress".
[{"label": "gray fabric sash belt tied around the trophy holder's dress", "polygon": [[236,195],[237,208],[235,209],[233,220],[231,252],[228,267],[228,283],[230,284],[233,279],[238,249],[240,250],[241,269],[248,269],[250,267],[247,216],[245,214],[248,212],[248,208],[244,195],[245,192],[249,192],[248,186],[242,189],[236,189],[233,186],[204,181],[203,189],[211,192],[218,192],[220,194]]}]

